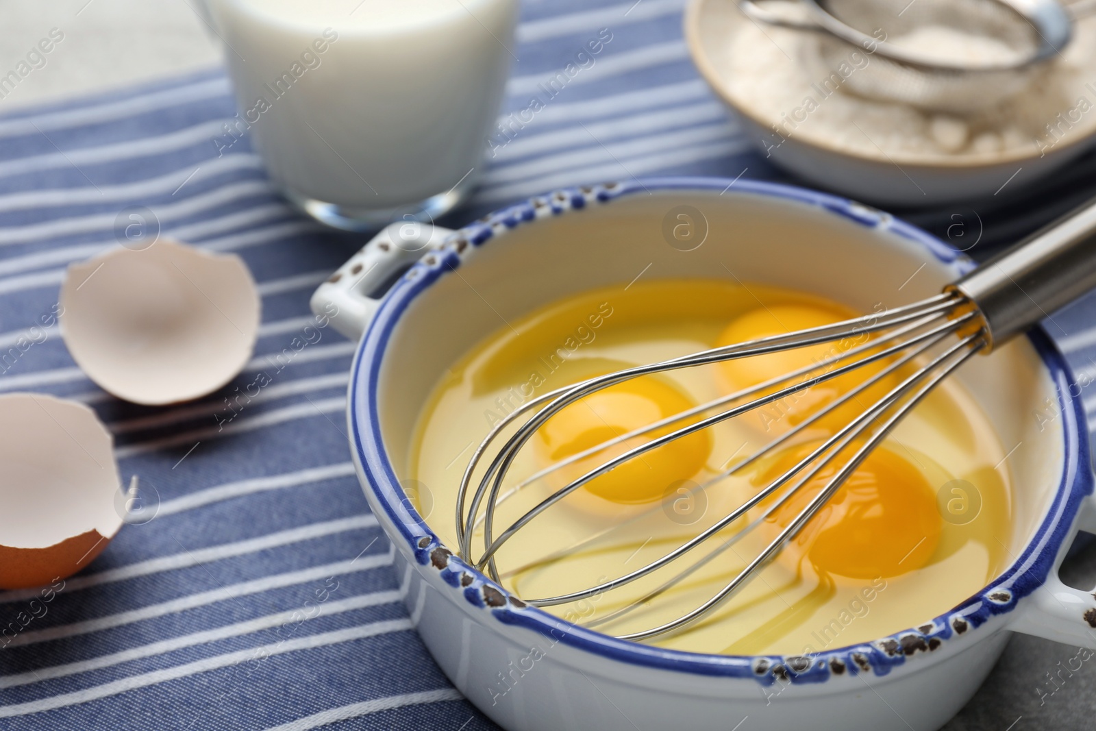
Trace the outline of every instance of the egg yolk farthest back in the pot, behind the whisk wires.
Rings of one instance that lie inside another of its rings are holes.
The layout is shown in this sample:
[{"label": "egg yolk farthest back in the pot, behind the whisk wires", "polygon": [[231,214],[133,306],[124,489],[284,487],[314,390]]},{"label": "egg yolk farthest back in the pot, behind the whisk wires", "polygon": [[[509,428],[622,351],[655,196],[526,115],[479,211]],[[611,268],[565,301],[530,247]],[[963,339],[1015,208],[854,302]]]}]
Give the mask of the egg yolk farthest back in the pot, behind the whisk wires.
[{"label": "egg yolk farthest back in the pot, behind the whisk wires", "polygon": [[[783,335],[797,330],[834,324],[835,322],[847,320],[848,317],[847,313],[824,307],[770,305],[751,310],[735,318],[723,330],[716,344],[717,346],[735,345],[758,338]],[[719,370],[730,390],[740,390],[756,386],[775,376],[789,374],[847,352],[863,345],[868,340],[869,335],[867,333],[849,332],[845,338],[826,343],[724,361],[719,364]],[[846,362],[834,364],[829,366],[829,368],[833,369],[843,365],[846,365]],[[883,362],[867,364],[843,376],[823,380],[804,390],[789,393],[778,401],[758,408],[755,413],[758,415],[765,431],[787,431],[787,429],[800,423],[824,404],[846,393],[884,367],[886,364]],[[794,380],[773,387],[768,392],[806,380],[821,373],[823,372],[818,369],[804,374]],[[897,382],[897,379],[890,377],[874,385],[864,393],[865,403],[875,401],[875,399],[886,393]],[[870,397],[875,398],[871,398],[869,401]],[[831,425],[847,422],[852,415],[855,415],[850,414],[852,409],[855,409],[855,404],[845,404],[836,409],[832,414],[827,414],[822,421]],[[863,409],[863,406],[860,409]]]}]

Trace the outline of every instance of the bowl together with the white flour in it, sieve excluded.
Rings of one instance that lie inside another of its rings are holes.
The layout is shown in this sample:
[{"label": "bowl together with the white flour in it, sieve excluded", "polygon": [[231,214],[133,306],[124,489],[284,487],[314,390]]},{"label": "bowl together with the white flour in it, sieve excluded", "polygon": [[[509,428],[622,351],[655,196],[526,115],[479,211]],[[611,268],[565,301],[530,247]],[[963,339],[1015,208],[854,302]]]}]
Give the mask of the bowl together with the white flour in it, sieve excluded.
[{"label": "bowl together with the white flour in it, sieve excluded", "polygon": [[1023,91],[969,111],[861,95],[880,62],[870,50],[849,46],[834,59],[819,34],[756,23],[732,0],[693,0],[685,35],[700,73],[764,156],[861,201],[992,196],[1036,183],[1096,138],[1096,19],[1078,21],[1073,42]]}]

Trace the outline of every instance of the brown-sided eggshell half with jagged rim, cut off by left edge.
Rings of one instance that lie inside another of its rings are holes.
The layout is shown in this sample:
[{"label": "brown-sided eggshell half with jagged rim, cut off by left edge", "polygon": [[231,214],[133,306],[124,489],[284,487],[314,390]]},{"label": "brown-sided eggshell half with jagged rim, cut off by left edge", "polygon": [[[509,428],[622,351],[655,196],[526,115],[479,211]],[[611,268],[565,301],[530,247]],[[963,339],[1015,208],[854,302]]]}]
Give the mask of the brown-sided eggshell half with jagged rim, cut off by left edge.
[{"label": "brown-sided eggshell half with jagged rim, cut off by left edge", "polygon": [[0,589],[70,576],[122,527],[114,438],[82,403],[0,396]]}]

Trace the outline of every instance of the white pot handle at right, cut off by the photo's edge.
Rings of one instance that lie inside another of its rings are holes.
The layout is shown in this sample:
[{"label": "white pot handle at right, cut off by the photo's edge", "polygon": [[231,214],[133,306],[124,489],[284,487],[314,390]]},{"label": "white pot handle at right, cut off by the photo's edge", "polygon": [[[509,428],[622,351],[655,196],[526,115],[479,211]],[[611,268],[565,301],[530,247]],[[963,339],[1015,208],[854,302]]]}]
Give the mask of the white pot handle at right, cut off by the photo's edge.
[{"label": "white pot handle at right, cut off by the photo's edge", "polygon": [[[1096,495],[1085,498],[1077,514],[1076,528],[1096,533]],[[1072,535],[1076,536],[1076,533]],[[1058,576],[1058,568],[1069,545],[1063,545],[1047,581],[1019,609],[1020,614],[1009,629],[1055,642],[1096,649],[1096,587],[1087,592],[1073,589],[1062,583]]]}]

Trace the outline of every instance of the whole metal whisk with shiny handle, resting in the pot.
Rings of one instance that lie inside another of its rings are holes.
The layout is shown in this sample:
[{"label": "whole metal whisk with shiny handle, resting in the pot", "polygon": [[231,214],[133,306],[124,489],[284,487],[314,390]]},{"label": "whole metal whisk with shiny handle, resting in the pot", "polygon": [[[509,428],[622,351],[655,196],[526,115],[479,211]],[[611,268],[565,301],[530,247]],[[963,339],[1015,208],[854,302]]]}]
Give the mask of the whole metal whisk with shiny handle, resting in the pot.
[{"label": "whole metal whisk with shiny handle, resting in the pot", "polygon": [[[1074,212],[948,285],[941,294],[923,301],[835,324],[763,338],[662,363],[618,370],[534,398],[495,425],[479,445],[465,470],[456,505],[460,556],[480,570],[487,571],[495,581],[500,581],[499,569],[495,564],[496,558],[500,549],[509,540],[564,498],[628,460],[642,458],[642,455],[674,439],[711,429],[765,404],[800,393],[823,381],[853,373],[869,364],[877,364],[876,368],[869,369],[870,377],[866,377],[855,388],[824,404],[794,429],[749,455],[744,460],[711,478],[708,482],[711,483],[772,454],[774,449],[826,414],[833,414],[840,408],[855,406],[859,402],[857,397],[867,393],[871,387],[878,388],[880,385],[901,378],[897,386],[864,408],[859,415],[841,426],[832,436],[775,481],[757,490],[738,507],[728,512],[697,535],[684,540],[676,548],[669,550],[661,558],[624,575],[598,580],[596,585],[580,591],[550,597],[522,597],[527,604],[539,607],[562,605],[619,590],[661,569],[680,569],[653,591],[649,591],[638,599],[628,603],[623,609],[601,617],[589,625],[594,626],[609,621],[639,605],[647,605],[671,586],[678,584],[700,567],[713,560],[730,545],[741,540],[755,529],[774,511],[785,505],[797,491],[823,469],[833,465],[836,472],[825,482],[824,487],[819,489],[806,506],[780,530],[779,535],[750,559],[745,568],[709,598],[671,621],[664,621],[655,627],[619,637],[640,640],[680,630],[724,603],[751,578],[755,576],[765,564],[772,561],[833,496],[845,480],[856,471],[871,450],[940,381],[975,353],[990,353],[1005,341],[1035,325],[1048,313],[1076,299],[1093,287],[1096,287],[1096,203],[1091,203]],[[729,393],[608,439],[541,469],[521,480],[517,484],[505,484],[507,473],[518,453],[528,444],[537,430],[569,404],[601,389],[651,374],[831,343],[849,335],[860,334],[872,336],[868,338],[864,344],[845,352],[837,352],[824,361],[792,373],[775,375],[762,384]],[[884,380],[887,378],[891,380]],[[684,425],[677,426],[678,424]],[[609,447],[669,427],[673,427],[673,431],[651,436],[641,444],[606,459],[578,479],[555,490],[532,510],[496,533],[496,507],[527,489],[528,486]],[[513,433],[505,438],[501,447],[494,447],[496,442],[502,441],[502,435],[509,432]],[[487,462],[488,466],[480,468],[483,462]],[[482,475],[473,488],[473,475],[478,470],[481,470]],[[762,504],[781,489],[784,489],[783,494],[773,499],[772,504]],[[754,511],[754,514],[757,511],[763,512],[760,517],[753,518],[753,515],[747,515],[750,511]],[[716,541],[719,545],[708,555],[688,566],[676,563],[685,555],[710,541],[743,516],[746,516],[751,522],[745,527],[735,530],[728,539]],[[480,528],[483,532],[482,550],[476,550],[473,538]],[[556,549],[549,551],[549,558],[560,560],[566,560],[568,552],[574,550],[573,546],[549,548]]]}]

